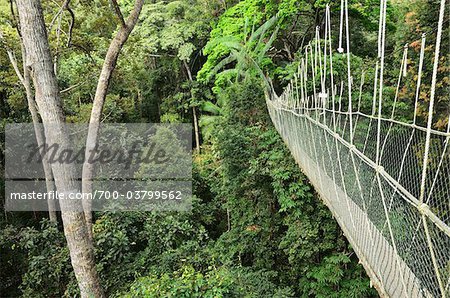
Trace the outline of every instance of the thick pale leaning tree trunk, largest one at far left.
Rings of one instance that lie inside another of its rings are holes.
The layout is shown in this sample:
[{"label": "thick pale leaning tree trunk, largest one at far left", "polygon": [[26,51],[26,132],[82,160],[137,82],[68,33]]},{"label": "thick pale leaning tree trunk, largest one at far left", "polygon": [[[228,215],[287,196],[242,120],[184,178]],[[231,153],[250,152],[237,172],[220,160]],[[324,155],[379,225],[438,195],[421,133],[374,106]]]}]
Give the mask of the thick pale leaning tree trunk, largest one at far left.
[{"label": "thick pale leaning tree trunk, largest one at far left", "polygon": [[[53,72],[44,16],[39,0],[17,0],[23,44],[35,87],[36,102],[48,143],[58,143],[61,150],[70,149],[59,88]],[[80,191],[73,164],[53,163],[55,184],[60,193]],[[94,263],[92,241],[88,236],[84,213],[75,208],[78,200],[61,200],[64,234],[80,288],[81,297],[103,297]]]}]

